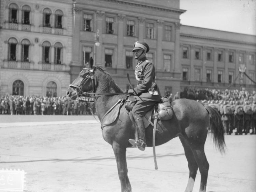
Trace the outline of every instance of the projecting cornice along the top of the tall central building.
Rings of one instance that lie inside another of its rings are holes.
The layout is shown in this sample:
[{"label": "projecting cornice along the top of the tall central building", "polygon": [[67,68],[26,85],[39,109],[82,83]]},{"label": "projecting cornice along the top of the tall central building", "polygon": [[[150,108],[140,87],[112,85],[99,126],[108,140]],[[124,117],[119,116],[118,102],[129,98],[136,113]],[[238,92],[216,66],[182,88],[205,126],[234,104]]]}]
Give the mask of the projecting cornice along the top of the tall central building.
[{"label": "projecting cornice along the top of the tall central building", "polygon": [[166,7],[162,7],[162,6],[156,6],[153,4],[139,4],[137,2],[130,2],[130,1],[120,1],[120,0],[101,0],[101,1],[113,2],[113,3],[121,4],[121,5],[136,6],[136,7],[140,7],[140,8],[146,8],[146,9],[154,9],[154,10],[158,10],[158,11],[174,12],[174,13],[178,13],[178,14],[182,14],[182,13],[186,12],[186,10],[183,10],[183,9],[166,8]]}]

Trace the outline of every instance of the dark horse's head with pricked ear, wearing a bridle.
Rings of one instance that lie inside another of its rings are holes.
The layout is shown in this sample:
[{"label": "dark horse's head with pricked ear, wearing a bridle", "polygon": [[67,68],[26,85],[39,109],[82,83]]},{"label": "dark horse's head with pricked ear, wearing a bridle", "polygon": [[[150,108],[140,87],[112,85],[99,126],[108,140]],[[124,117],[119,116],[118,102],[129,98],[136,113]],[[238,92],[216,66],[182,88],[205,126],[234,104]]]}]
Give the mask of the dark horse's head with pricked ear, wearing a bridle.
[{"label": "dark horse's head with pricked ear, wearing a bridle", "polygon": [[89,63],[84,65],[84,68],[78,75],[78,77],[69,85],[68,90],[66,91],[66,96],[72,100],[75,100],[77,97],[85,96],[86,92],[94,91],[94,69],[92,66],[94,63],[93,59],[90,58]]}]

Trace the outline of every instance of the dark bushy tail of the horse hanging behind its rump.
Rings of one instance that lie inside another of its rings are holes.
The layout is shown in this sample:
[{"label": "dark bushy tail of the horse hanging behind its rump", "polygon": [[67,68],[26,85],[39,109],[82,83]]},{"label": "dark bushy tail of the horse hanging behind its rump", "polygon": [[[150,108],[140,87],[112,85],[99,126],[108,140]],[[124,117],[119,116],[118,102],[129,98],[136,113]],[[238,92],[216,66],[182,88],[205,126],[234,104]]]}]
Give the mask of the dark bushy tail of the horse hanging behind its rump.
[{"label": "dark bushy tail of the horse hanging behind its rump", "polygon": [[204,105],[210,116],[209,130],[211,136],[213,136],[214,145],[218,147],[221,154],[225,153],[226,144],[225,144],[225,129],[221,121],[220,114],[214,108]]}]

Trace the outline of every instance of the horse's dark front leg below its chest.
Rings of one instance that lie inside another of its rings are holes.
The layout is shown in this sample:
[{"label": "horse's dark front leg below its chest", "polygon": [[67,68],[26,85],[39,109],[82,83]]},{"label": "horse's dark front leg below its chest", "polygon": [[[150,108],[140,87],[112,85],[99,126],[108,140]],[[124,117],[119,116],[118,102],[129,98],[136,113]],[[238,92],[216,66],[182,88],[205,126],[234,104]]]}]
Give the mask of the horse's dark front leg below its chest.
[{"label": "horse's dark front leg below its chest", "polygon": [[128,169],[126,164],[126,146],[121,146],[116,142],[113,142],[112,148],[116,156],[117,170],[119,180],[121,182],[121,191],[122,192],[131,192],[132,186],[128,178]]}]

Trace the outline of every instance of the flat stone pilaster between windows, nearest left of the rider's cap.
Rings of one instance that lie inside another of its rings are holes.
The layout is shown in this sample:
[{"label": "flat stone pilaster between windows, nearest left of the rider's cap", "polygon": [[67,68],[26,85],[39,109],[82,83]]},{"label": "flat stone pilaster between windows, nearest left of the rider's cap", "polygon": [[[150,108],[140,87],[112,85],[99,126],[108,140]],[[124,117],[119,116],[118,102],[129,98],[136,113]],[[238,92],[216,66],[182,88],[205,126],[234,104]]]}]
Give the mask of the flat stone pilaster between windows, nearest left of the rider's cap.
[{"label": "flat stone pilaster between windows, nearest left of the rider's cap", "polygon": [[[124,50],[123,50],[123,36],[124,36],[124,18],[125,15],[118,14],[117,19],[118,19],[118,37],[117,37],[117,68],[125,68],[125,62],[123,61],[123,55]],[[115,66],[113,66],[115,67]]]}]

